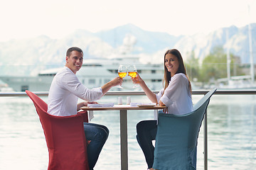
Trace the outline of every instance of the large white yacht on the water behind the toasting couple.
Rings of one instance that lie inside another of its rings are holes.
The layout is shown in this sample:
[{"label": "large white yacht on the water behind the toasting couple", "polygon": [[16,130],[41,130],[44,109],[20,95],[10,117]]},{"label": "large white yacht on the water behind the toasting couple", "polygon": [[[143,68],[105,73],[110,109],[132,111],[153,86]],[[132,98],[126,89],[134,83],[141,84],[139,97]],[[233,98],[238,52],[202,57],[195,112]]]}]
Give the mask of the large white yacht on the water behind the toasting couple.
[{"label": "large white yacht on the water behind the toasting couple", "polygon": [[[162,88],[162,79],[164,77],[163,64],[142,64],[139,62],[139,57],[136,55],[123,54],[114,58],[85,59],[81,69],[77,72],[77,76],[87,88],[99,87],[118,76],[117,70],[119,64],[135,64],[137,72],[151,90],[159,90]],[[0,77],[0,79],[8,84],[9,88],[14,91],[49,91],[53,77],[60,69],[63,69],[63,67],[43,70],[39,72],[37,76],[6,76]],[[113,87],[111,90],[134,91],[140,88],[134,89],[132,86],[134,85],[132,84],[131,77],[126,76],[122,83],[124,89]]]}]

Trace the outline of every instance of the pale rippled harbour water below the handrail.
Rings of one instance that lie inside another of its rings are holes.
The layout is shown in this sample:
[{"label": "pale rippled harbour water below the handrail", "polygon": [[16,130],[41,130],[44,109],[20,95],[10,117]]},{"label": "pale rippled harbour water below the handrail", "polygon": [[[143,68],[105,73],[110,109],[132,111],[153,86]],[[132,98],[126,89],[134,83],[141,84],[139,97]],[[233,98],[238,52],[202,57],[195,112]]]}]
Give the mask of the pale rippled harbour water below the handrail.
[{"label": "pale rippled harbour water below the handrail", "polygon": [[[202,96],[193,96],[196,103]],[[47,101],[46,97],[42,97]],[[208,169],[256,169],[256,96],[211,98],[208,107]],[[117,103],[117,96],[100,102]],[[125,101],[125,97],[123,97]],[[149,102],[132,96],[132,102]],[[32,101],[28,97],[0,98],[0,169],[48,167],[48,149]],[[153,111],[128,111],[129,169],[146,170],[144,155],[135,139],[136,124],[153,118]],[[110,136],[95,170],[120,169],[119,111],[97,111],[93,123],[106,125]],[[203,127],[198,137],[198,169],[203,169]]]}]

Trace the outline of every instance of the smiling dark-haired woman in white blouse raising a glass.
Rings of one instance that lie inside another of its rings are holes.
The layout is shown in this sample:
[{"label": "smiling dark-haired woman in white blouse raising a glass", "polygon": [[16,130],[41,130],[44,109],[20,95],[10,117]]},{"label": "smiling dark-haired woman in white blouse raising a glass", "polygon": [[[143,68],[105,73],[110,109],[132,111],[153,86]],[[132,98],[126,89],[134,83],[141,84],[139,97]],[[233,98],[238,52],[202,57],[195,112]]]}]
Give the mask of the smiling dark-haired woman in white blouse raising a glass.
[{"label": "smiling dark-haired woman in white blouse raising a glass", "polygon": [[[164,55],[164,88],[154,94],[139,75],[132,80],[139,84],[153,103],[166,106],[164,113],[182,115],[193,111],[191,83],[186,74],[181,53],[176,49],[167,50]],[[156,120],[143,120],[137,124],[137,141],[146,158],[148,169],[152,170],[156,137]]]}]

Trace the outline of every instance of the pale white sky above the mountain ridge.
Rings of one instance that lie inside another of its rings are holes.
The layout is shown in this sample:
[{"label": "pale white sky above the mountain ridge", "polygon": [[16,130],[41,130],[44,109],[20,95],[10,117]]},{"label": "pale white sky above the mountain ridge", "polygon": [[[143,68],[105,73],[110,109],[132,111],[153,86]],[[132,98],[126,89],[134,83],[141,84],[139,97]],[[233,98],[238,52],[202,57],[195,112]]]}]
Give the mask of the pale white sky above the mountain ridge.
[{"label": "pale white sky above the mountain ridge", "polygon": [[132,23],[143,30],[171,35],[207,34],[218,28],[242,27],[248,23],[256,23],[255,0],[0,0],[0,2],[0,42],[35,38],[39,35],[63,38],[78,29],[95,33],[127,23]]}]

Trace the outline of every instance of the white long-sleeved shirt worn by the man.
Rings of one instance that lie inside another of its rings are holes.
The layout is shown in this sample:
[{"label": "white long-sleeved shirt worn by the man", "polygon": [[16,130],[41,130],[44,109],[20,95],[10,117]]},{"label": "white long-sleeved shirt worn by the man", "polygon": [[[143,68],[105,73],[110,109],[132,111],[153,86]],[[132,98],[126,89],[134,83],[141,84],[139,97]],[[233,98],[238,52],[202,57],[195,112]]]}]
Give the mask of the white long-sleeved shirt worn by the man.
[{"label": "white long-sleeved shirt worn by the man", "polygon": [[85,101],[96,101],[102,97],[101,87],[87,89],[78,77],[64,67],[53,78],[48,95],[48,113],[68,116],[77,114],[78,98]]}]

